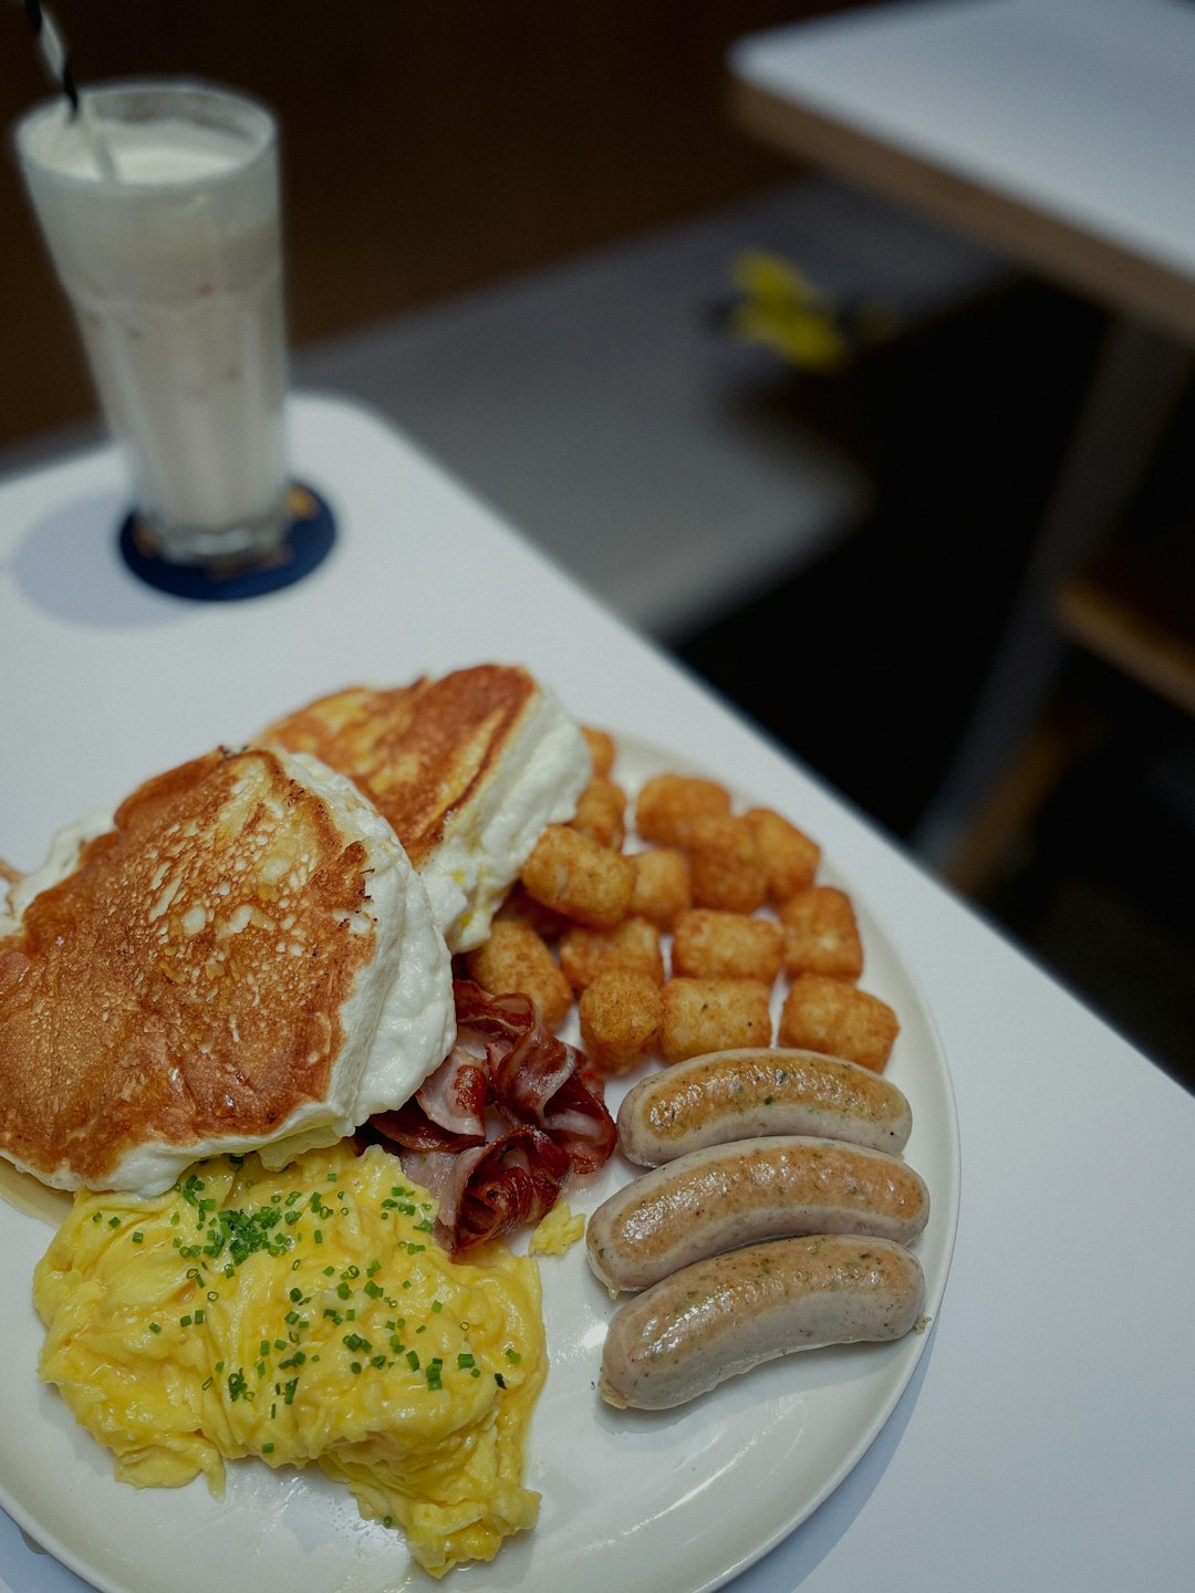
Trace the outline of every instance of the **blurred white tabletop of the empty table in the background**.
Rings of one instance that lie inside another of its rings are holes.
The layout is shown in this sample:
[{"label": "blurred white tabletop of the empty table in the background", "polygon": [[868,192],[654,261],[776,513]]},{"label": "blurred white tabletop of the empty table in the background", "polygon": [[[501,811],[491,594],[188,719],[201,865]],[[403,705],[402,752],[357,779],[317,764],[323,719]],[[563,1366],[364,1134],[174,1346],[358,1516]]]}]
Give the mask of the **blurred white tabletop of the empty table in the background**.
[{"label": "blurred white tabletop of the empty table in the background", "polygon": [[[895,182],[897,198],[924,198],[1029,264],[1069,266],[1114,304],[1123,295],[1119,307],[1166,311],[1165,284],[1134,261],[1173,274],[1166,317],[1195,328],[1181,293],[1195,279],[1190,0],[900,0],[752,35],[730,67],[942,175],[905,188],[905,169],[872,162],[881,190]],[[1087,258],[983,194],[1071,229]]]}]

